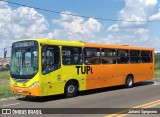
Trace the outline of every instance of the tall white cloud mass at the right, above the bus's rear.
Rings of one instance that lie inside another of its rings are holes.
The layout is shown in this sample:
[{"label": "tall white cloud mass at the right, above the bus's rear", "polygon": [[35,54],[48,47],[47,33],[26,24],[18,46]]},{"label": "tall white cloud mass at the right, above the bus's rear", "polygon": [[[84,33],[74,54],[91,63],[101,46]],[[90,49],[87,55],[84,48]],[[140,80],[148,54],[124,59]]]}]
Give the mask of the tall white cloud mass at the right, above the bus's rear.
[{"label": "tall white cloud mass at the right, above the bus's rear", "polygon": [[[129,44],[154,47],[158,49],[159,38],[151,35],[146,20],[158,20],[160,13],[155,13],[157,0],[124,0],[125,6],[118,12],[115,24],[108,27],[107,43]],[[137,21],[137,22],[129,22]],[[105,39],[104,39],[105,40]]]}]

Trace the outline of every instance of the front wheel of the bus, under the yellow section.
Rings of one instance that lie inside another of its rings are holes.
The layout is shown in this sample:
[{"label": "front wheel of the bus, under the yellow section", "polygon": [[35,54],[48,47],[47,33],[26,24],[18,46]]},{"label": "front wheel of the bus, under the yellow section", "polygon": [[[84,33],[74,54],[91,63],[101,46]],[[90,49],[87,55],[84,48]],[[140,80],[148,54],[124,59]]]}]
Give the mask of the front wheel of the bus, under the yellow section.
[{"label": "front wheel of the bus, under the yellow section", "polygon": [[70,98],[76,96],[78,92],[78,86],[74,81],[69,81],[65,86],[65,97]]}]

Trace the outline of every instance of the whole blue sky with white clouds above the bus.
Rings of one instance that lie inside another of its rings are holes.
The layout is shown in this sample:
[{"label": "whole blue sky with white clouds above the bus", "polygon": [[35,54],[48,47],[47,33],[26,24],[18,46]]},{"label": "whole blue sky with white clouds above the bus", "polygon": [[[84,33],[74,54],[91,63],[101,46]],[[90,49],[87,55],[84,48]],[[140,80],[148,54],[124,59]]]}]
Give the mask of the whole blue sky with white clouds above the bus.
[{"label": "whole blue sky with white clouds above the bus", "polygon": [[160,51],[159,27],[160,0],[1,1],[0,57],[4,48],[10,56],[13,41],[27,38],[128,44]]}]

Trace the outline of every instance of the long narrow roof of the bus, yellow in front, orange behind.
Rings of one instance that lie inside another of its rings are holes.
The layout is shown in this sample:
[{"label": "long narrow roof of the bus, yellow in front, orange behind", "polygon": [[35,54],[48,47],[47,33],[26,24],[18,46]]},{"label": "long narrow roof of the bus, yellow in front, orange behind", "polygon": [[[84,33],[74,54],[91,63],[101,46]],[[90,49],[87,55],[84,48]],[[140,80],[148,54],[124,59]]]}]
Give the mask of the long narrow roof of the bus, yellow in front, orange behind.
[{"label": "long narrow roof of the bus, yellow in front, orange behind", "polygon": [[24,40],[18,40],[18,41],[27,41],[27,40],[35,40],[43,44],[54,44],[54,45],[62,45],[62,46],[82,46],[82,47],[84,46],[84,47],[111,48],[111,49],[117,48],[117,49],[154,50],[154,48],[150,48],[150,47],[131,46],[126,44],[96,44],[96,43],[89,43],[89,42],[83,42],[83,41],[64,41],[64,40],[51,40],[51,39],[24,39]]}]

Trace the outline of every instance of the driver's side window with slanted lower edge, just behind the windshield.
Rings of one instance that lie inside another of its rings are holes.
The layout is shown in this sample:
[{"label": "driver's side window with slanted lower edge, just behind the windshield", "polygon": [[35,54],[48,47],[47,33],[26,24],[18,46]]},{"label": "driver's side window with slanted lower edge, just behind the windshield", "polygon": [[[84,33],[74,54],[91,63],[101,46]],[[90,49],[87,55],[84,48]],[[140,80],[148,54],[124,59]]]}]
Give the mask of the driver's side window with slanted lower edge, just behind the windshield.
[{"label": "driver's side window with slanted lower edge, just behind the windshield", "polygon": [[42,47],[42,74],[47,74],[51,71],[60,68],[60,50],[58,46],[43,46]]}]

